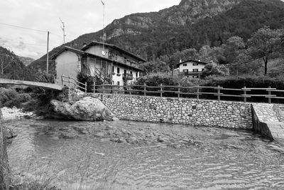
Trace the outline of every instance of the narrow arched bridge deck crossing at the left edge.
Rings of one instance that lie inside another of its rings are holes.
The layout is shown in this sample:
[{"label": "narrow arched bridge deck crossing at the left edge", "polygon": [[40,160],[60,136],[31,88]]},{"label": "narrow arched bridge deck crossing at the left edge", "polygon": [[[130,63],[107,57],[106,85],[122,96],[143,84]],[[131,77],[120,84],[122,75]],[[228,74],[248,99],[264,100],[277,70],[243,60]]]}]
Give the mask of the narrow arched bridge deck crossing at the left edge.
[{"label": "narrow arched bridge deck crossing at the left edge", "polygon": [[56,85],[53,83],[40,83],[34,81],[26,81],[26,80],[11,80],[6,78],[0,78],[0,84],[3,85],[26,85],[31,87],[40,87],[49,90],[62,90],[61,85]]}]

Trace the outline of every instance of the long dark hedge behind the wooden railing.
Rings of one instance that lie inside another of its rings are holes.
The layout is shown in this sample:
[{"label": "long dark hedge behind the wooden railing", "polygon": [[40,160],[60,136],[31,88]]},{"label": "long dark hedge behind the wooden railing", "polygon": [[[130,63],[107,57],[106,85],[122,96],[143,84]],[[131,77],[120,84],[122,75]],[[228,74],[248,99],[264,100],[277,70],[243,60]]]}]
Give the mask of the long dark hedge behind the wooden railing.
[{"label": "long dark hedge behind the wooden railing", "polygon": [[[163,85],[178,85],[180,84],[182,87],[193,87],[196,85],[200,86],[212,86],[217,87],[218,85],[223,88],[234,88],[240,90],[222,90],[221,93],[226,95],[242,95],[244,91],[241,88],[276,88],[278,90],[284,90],[284,77],[280,76],[278,78],[269,78],[269,77],[257,77],[250,75],[243,76],[226,76],[226,77],[216,77],[209,76],[204,78],[204,80],[194,79],[194,78],[178,78],[171,77],[167,73],[156,73],[151,75],[143,76],[139,78],[135,85],[146,85],[148,86],[157,86],[157,88],[146,88],[148,91],[158,91],[160,88],[158,86],[160,84]],[[136,87],[137,90],[143,90],[143,87]],[[177,91],[176,88],[163,88],[163,90]],[[182,89],[182,93],[195,93],[196,89]],[[215,89],[203,88],[200,90],[200,93],[217,93]],[[247,92],[247,94],[251,95],[268,95],[268,91],[266,90],[251,90],[251,92]],[[279,97],[284,97],[284,93],[272,93],[273,95],[277,95]],[[147,93],[147,95],[159,95],[159,93]],[[165,97],[177,97],[176,93],[163,93]],[[196,95],[181,95],[181,97],[196,97]],[[217,100],[216,95],[200,95],[201,98],[204,99],[212,99]],[[232,101],[243,101],[244,97],[221,97],[221,100],[232,100]],[[248,101],[251,102],[268,102],[267,97],[248,97]],[[284,100],[273,100],[273,102],[284,103]]]}]

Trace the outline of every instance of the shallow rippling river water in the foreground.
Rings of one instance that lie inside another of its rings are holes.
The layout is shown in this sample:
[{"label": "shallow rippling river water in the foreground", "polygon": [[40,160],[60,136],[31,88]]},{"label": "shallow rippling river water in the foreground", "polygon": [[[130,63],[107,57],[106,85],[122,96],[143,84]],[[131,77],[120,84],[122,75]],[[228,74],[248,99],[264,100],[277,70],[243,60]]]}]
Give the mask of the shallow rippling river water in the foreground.
[{"label": "shallow rippling river water in the foreground", "polygon": [[18,134],[8,149],[13,174],[62,189],[284,189],[283,146],[249,131],[129,121],[7,125]]}]

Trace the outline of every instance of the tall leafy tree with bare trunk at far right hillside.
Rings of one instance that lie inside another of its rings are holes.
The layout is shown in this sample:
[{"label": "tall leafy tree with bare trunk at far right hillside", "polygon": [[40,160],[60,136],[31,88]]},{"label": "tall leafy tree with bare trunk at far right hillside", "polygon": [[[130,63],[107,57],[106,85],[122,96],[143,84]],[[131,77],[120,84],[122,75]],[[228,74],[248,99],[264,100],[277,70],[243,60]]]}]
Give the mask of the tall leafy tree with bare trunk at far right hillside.
[{"label": "tall leafy tree with bare trunk at far right hillside", "polygon": [[249,39],[249,51],[253,58],[261,58],[264,63],[264,75],[268,70],[268,59],[280,51],[283,29],[271,29],[268,26],[260,28]]}]

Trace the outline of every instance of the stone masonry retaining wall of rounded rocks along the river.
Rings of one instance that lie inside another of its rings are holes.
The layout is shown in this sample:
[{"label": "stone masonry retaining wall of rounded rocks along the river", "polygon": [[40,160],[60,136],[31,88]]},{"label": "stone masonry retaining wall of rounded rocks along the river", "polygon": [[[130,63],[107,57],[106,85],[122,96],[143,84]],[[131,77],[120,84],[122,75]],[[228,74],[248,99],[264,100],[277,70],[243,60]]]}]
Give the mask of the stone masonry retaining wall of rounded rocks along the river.
[{"label": "stone masonry retaining wall of rounded rocks along the river", "polygon": [[102,100],[121,120],[252,129],[249,103],[130,95],[91,96]]}]

